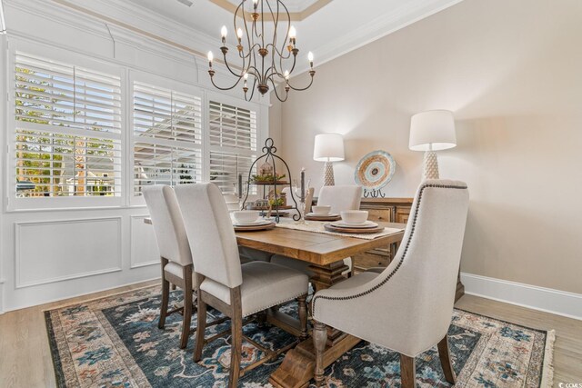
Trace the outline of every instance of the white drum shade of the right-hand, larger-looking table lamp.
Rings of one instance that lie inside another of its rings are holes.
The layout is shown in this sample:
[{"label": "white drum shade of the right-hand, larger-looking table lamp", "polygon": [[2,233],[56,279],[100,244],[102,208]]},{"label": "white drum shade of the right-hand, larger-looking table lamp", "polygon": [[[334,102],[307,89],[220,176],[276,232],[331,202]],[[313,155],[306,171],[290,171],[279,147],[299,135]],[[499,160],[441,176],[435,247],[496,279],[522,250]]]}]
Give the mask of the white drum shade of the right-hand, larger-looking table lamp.
[{"label": "white drum shade of the right-hand, larger-looking table lamp", "polygon": [[410,120],[408,148],[413,151],[446,150],[457,145],[455,117],[450,111],[427,111]]}]

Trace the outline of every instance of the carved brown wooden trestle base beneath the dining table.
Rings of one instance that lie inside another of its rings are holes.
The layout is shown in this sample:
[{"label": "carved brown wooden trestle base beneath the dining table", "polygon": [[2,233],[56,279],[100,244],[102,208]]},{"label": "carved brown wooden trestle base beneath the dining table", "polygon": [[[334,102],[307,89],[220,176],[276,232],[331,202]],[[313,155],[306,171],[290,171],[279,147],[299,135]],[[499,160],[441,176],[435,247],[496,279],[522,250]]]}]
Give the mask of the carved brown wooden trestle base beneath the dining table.
[{"label": "carved brown wooden trestle base beneath the dining table", "polygon": [[[311,284],[314,285],[316,291],[329,288],[333,284],[346,280],[342,272],[347,268],[343,261],[328,265],[312,264],[309,267],[314,274],[310,279]],[[360,341],[359,338],[328,327],[323,367],[326,368],[334,363]],[[314,377],[315,366],[316,349],[313,340],[308,338],[286,353],[283,363],[271,374],[269,383],[278,388],[305,388]]]}]

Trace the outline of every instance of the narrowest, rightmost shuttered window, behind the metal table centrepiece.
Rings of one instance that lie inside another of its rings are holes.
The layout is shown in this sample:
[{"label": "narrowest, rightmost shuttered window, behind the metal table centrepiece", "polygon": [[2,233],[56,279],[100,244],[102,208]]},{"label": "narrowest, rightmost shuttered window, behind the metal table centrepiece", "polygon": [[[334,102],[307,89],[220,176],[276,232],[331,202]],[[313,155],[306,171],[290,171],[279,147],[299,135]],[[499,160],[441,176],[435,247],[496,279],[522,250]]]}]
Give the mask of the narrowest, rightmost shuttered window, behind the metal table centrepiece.
[{"label": "narrowest, rightmost shuttered window, behind the metal table centrepiece", "polygon": [[246,182],[256,159],[256,113],[231,104],[208,104],[210,181],[224,193],[232,193],[238,174]]}]

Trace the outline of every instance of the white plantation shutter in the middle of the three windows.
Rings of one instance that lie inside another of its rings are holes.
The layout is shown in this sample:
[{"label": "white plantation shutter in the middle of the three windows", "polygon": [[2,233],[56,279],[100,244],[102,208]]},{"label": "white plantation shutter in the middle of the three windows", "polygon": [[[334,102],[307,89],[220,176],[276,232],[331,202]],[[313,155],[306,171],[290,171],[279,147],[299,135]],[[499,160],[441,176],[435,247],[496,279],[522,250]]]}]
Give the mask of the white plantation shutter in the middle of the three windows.
[{"label": "white plantation shutter in the middle of the three windows", "polygon": [[134,83],[134,194],[202,180],[202,99]]}]

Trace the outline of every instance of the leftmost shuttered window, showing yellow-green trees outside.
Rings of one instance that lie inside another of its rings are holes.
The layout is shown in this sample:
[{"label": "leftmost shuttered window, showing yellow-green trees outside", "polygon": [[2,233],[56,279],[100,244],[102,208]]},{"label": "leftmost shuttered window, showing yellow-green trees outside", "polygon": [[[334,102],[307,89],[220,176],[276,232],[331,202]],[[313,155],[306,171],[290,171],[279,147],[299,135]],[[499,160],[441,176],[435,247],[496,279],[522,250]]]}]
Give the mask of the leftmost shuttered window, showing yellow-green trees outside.
[{"label": "leftmost shuttered window, showing yellow-green trees outside", "polygon": [[16,197],[121,194],[121,79],[15,55]]}]

